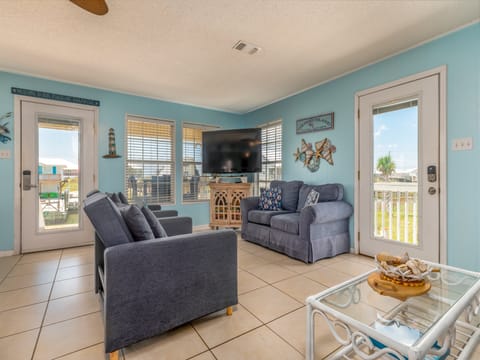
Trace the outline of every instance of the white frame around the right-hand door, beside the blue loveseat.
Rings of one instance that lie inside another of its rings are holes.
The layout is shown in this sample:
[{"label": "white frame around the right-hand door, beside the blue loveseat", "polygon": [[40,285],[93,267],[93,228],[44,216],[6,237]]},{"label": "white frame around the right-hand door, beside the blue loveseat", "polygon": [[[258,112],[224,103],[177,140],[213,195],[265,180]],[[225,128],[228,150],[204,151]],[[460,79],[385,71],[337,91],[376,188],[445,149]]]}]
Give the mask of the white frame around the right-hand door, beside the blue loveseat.
[{"label": "white frame around the right-hand door, beside the blue loveseat", "polygon": [[360,170],[359,166],[359,118],[358,118],[358,111],[359,111],[359,104],[360,104],[360,97],[371,94],[374,92],[378,92],[381,90],[385,90],[388,88],[392,88],[394,86],[402,85],[408,82],[420,80],[422,78],[426,78],[429,76],[438,75],[439,77],[439,126],[440,126],[440,133],[439,133],[439,142],[440,142],[440,159],[439,159],[439,206],[440,206],[440,229],[439,229],[439,236],[440,236],[440,263],[446,264],[448,261],[448,253],[447,253],[447,150],[448,150],[448,143],[447,143],[447,66],[442,65],[436,67],[431,70],[427,70],[418,74],[410,75],[405,78],[395,80],[383,85],[379,85],[370,89],[358,91],[355,93],[355,113],[354,113],[354,122],[355,122],[355,199],[354,199],[354,253],[359,253],[359,243],[358,243],[358,232],[359,232],[359,183],[358,183],[358,171]]}]

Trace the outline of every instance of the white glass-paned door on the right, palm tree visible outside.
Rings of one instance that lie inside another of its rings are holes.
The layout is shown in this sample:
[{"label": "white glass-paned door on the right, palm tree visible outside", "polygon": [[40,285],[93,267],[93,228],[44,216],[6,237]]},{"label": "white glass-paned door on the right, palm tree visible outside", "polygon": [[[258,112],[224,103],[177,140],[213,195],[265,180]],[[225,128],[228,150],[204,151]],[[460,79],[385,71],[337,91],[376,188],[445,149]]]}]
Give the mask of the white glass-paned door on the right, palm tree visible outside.
[{"label": "white glass-paned door on the right, palm tree visible outside", "polygon": [[439,261],[439,76],[359,98],[359,250]]}]

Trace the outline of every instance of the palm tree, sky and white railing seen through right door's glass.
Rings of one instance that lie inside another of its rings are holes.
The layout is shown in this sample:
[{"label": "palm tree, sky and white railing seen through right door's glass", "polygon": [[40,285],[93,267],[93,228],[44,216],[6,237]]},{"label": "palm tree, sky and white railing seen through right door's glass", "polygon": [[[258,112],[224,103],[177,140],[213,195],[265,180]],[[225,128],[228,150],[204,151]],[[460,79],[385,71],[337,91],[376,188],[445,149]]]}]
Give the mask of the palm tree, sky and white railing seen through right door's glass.
[{"label": "palm tree, sky and white railing seen through right door's glass", "polygon": [[373,236],[418,245],[418,101],[373,109]]}]

